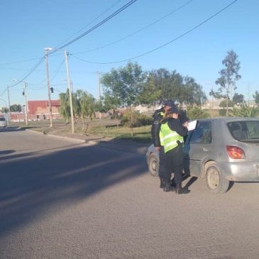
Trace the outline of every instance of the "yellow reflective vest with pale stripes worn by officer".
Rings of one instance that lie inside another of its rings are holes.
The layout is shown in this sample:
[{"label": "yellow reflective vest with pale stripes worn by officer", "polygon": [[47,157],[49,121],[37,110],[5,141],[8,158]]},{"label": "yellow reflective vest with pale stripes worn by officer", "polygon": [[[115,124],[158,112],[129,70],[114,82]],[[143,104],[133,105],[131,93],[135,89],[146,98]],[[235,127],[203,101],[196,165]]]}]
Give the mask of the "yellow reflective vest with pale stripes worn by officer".
[{"label": "yellow reflective vest with pale stripes worn by officer", "polygon": [[180,136],[176,131],[172,131],[167,123],[162,123],[160,127],[160,143],[164,146],[165,153],[177,147],[179,141],[184,143],[184,138]]}]

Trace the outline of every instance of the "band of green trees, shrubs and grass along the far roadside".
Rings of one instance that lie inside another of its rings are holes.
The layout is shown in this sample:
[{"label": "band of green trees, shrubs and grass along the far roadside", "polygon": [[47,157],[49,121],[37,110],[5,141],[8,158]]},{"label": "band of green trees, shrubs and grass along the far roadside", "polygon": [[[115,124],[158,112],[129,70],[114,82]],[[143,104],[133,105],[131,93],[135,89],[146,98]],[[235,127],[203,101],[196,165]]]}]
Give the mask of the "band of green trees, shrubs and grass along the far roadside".
[{"label": "band of green trees, shrubs and grass along the far roadside", "polygon": [[[109,138],[130,138],[138,141],[150,141],[152,114],[140,114],[135,111],[139,104],[158,106],[162,101],[173,99],[191,120],[214,116],[259,116],[259,92],[253,98],[255,106],[246,104],[243,94],[236,92],[236,82],[241,79],[241,67],[238,55],[233,50],[227,52],[222,60],[223,69],[209,95],[221,101],[221,109],[202,109],[207,97],[194,78],[181,75],[176,70],[165,68],[143,71],[137,62],[128,62],[125,67],[112,69],[101,76],[102,96],[94,99],[92,94],[77,90],[72,94],[73,114],[70,114],[69,91],[60,94],[60,114],[63,120],[54,121],[50,128],[49,121],[30,121],[29,128],[45,134],[68,134],[71,131],[71,116],[75,121],[75,133],[83,136],[104,136]],[[211,84],[212,85],[212,84]],[[234,92],[233,97],[231,94]],[[127,107],[127,108],[126,108]],[[21,106],[11,106],[11,111],[21,110]],[[8,112],[4,107],[2,112]],[[106,114],[107,119],[98,119],[95,114]],[[12,123],[25,127],[25,123]]]}]

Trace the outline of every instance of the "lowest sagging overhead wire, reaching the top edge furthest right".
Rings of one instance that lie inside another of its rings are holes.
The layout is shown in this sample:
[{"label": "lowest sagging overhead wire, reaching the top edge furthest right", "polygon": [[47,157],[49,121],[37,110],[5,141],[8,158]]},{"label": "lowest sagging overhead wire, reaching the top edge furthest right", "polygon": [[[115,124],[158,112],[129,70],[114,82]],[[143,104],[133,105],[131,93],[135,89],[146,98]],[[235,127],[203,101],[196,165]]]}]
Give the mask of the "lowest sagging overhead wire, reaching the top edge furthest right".
[{"label": "lowest sagging overhead wire, reaching the top edge furthest right", "polygon": [[153,50],[149,50],[147,51],[146,53],[143,53],[143,54],[140,54],[140,55],[137,55],[135,57],[131,57],[131,58],[128,58],[128,59],[125,59],[125,60],[119,60],[119,61],[114,61],[114,62],[93,62],[93,61],[89,61],[89,60],[84,60],[80,57],[77,57],[75,55],[72,55],[70,53],[70,55],[72,57],[75,57],[77,58],[78,60],[82,60],[84,62],[87,62],[87,63],[92,63],[92,64],[99,64],[99,65],[106,65],[106,64],[114,64],[114,63],[120,63],[120,62],[126,62],[126,61],[129,61],[129,60],[133,60],[133,59],[136,59],[138,57],[143,57],[144,55],[148,55],[150,53],[153,53],[154,51],[156,50],[159,50],[160,48],[163,48],[165,47],[166,45],[169,45],[170,43],[173,43],[175,40],[178,40],[180,38],[182,38],[183,36],[187,35],[188,33],[191,33],[192,31],[194,31],[195,29],[199,28],[200,26],[202,26],[204,23],[206,23],[207,21],[211,20],[212,18],[214,18],[215,16],[219,15],[219,13],[221,13],[222,11],[228,9],[228,7],[230,7],[231,5],[233,5],[234,3],[236,3],[236,1],[238,0],[235,0],[235,1],[232,1],[230,4],[228,4],[227,6],[225,6],[223,9],[221,9],[220,11],[214,13],[214,15],[210,16],[209,18],[206,18],[206,20],[202,21],[202,23],[199,23],[197,26],[194,26],[192,29],[190,29],[189,31],[185,32],[185,33],[182,33],[180,36],[168,41],[167,43],[163,44],[163,45],[160,45],[159,47],[157,48],[154,48]]}]

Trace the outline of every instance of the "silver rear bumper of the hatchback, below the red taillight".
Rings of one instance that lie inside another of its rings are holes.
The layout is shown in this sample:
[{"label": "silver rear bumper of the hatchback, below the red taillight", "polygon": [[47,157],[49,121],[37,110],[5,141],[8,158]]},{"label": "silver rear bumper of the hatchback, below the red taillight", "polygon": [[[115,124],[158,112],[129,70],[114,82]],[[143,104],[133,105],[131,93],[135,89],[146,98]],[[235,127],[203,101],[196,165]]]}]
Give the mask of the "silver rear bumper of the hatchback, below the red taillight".
[{"label": "silver rear bumper of the hatchback, below the red taillight", "polygon": [[258,162],[219,162],[227,180],[234,182],[259,182]]}]

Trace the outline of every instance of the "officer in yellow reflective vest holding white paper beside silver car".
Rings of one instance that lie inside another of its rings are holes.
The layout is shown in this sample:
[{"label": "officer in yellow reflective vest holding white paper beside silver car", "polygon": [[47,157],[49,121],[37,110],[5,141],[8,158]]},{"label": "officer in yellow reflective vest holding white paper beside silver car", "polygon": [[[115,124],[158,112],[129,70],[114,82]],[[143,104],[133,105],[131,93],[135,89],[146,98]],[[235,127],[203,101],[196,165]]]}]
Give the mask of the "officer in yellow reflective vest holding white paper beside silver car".
[{"label": "officer in yellow reflective vest holding white paper beside silver car", "polygon": [[[189,190],[182,188],[184,136],[187,135],[187,122],[182,125],[177,106],[167,111],[166,118],[160,126],[159,176],[163,181],[165,192],[187,194]],[[171,173],[174,172],[176,188],[170,185]]]}]

